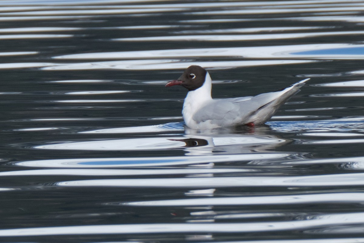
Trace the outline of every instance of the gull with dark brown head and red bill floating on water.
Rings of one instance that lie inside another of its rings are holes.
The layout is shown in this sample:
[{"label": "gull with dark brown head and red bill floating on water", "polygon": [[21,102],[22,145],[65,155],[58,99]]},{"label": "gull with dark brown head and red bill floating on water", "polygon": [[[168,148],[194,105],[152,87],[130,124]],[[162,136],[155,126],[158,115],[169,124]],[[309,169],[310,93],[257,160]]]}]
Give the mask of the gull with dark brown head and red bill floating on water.
[{"label": "gull with dark brown head and red bill floating on water", "polygon": [[181,77],[167,83],[166,87],[181,85],[188,90],[183,103],[183,119],[189,128],[203,130],[264,124],[307,80],[309,78],[285,89],[256,96],[213,99],[209,73],[204,68],[193,65]]}]

